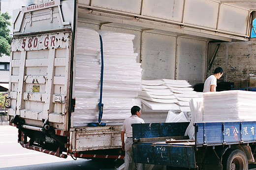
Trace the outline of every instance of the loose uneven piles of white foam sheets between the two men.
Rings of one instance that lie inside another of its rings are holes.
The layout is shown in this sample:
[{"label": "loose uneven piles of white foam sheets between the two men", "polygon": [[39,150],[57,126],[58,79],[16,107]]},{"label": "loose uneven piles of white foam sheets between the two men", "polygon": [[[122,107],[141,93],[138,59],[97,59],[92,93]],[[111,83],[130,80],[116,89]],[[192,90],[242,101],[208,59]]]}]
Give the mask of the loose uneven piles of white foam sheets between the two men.
[{"label": "loose uneven piles of white foam sheets between the two men", "polygon": [[142,80],[142,91],[139,92],[142,119],[145,122],[173,122],[190,117],[189,100],[200,96],[190,86],[186,80]]}]

